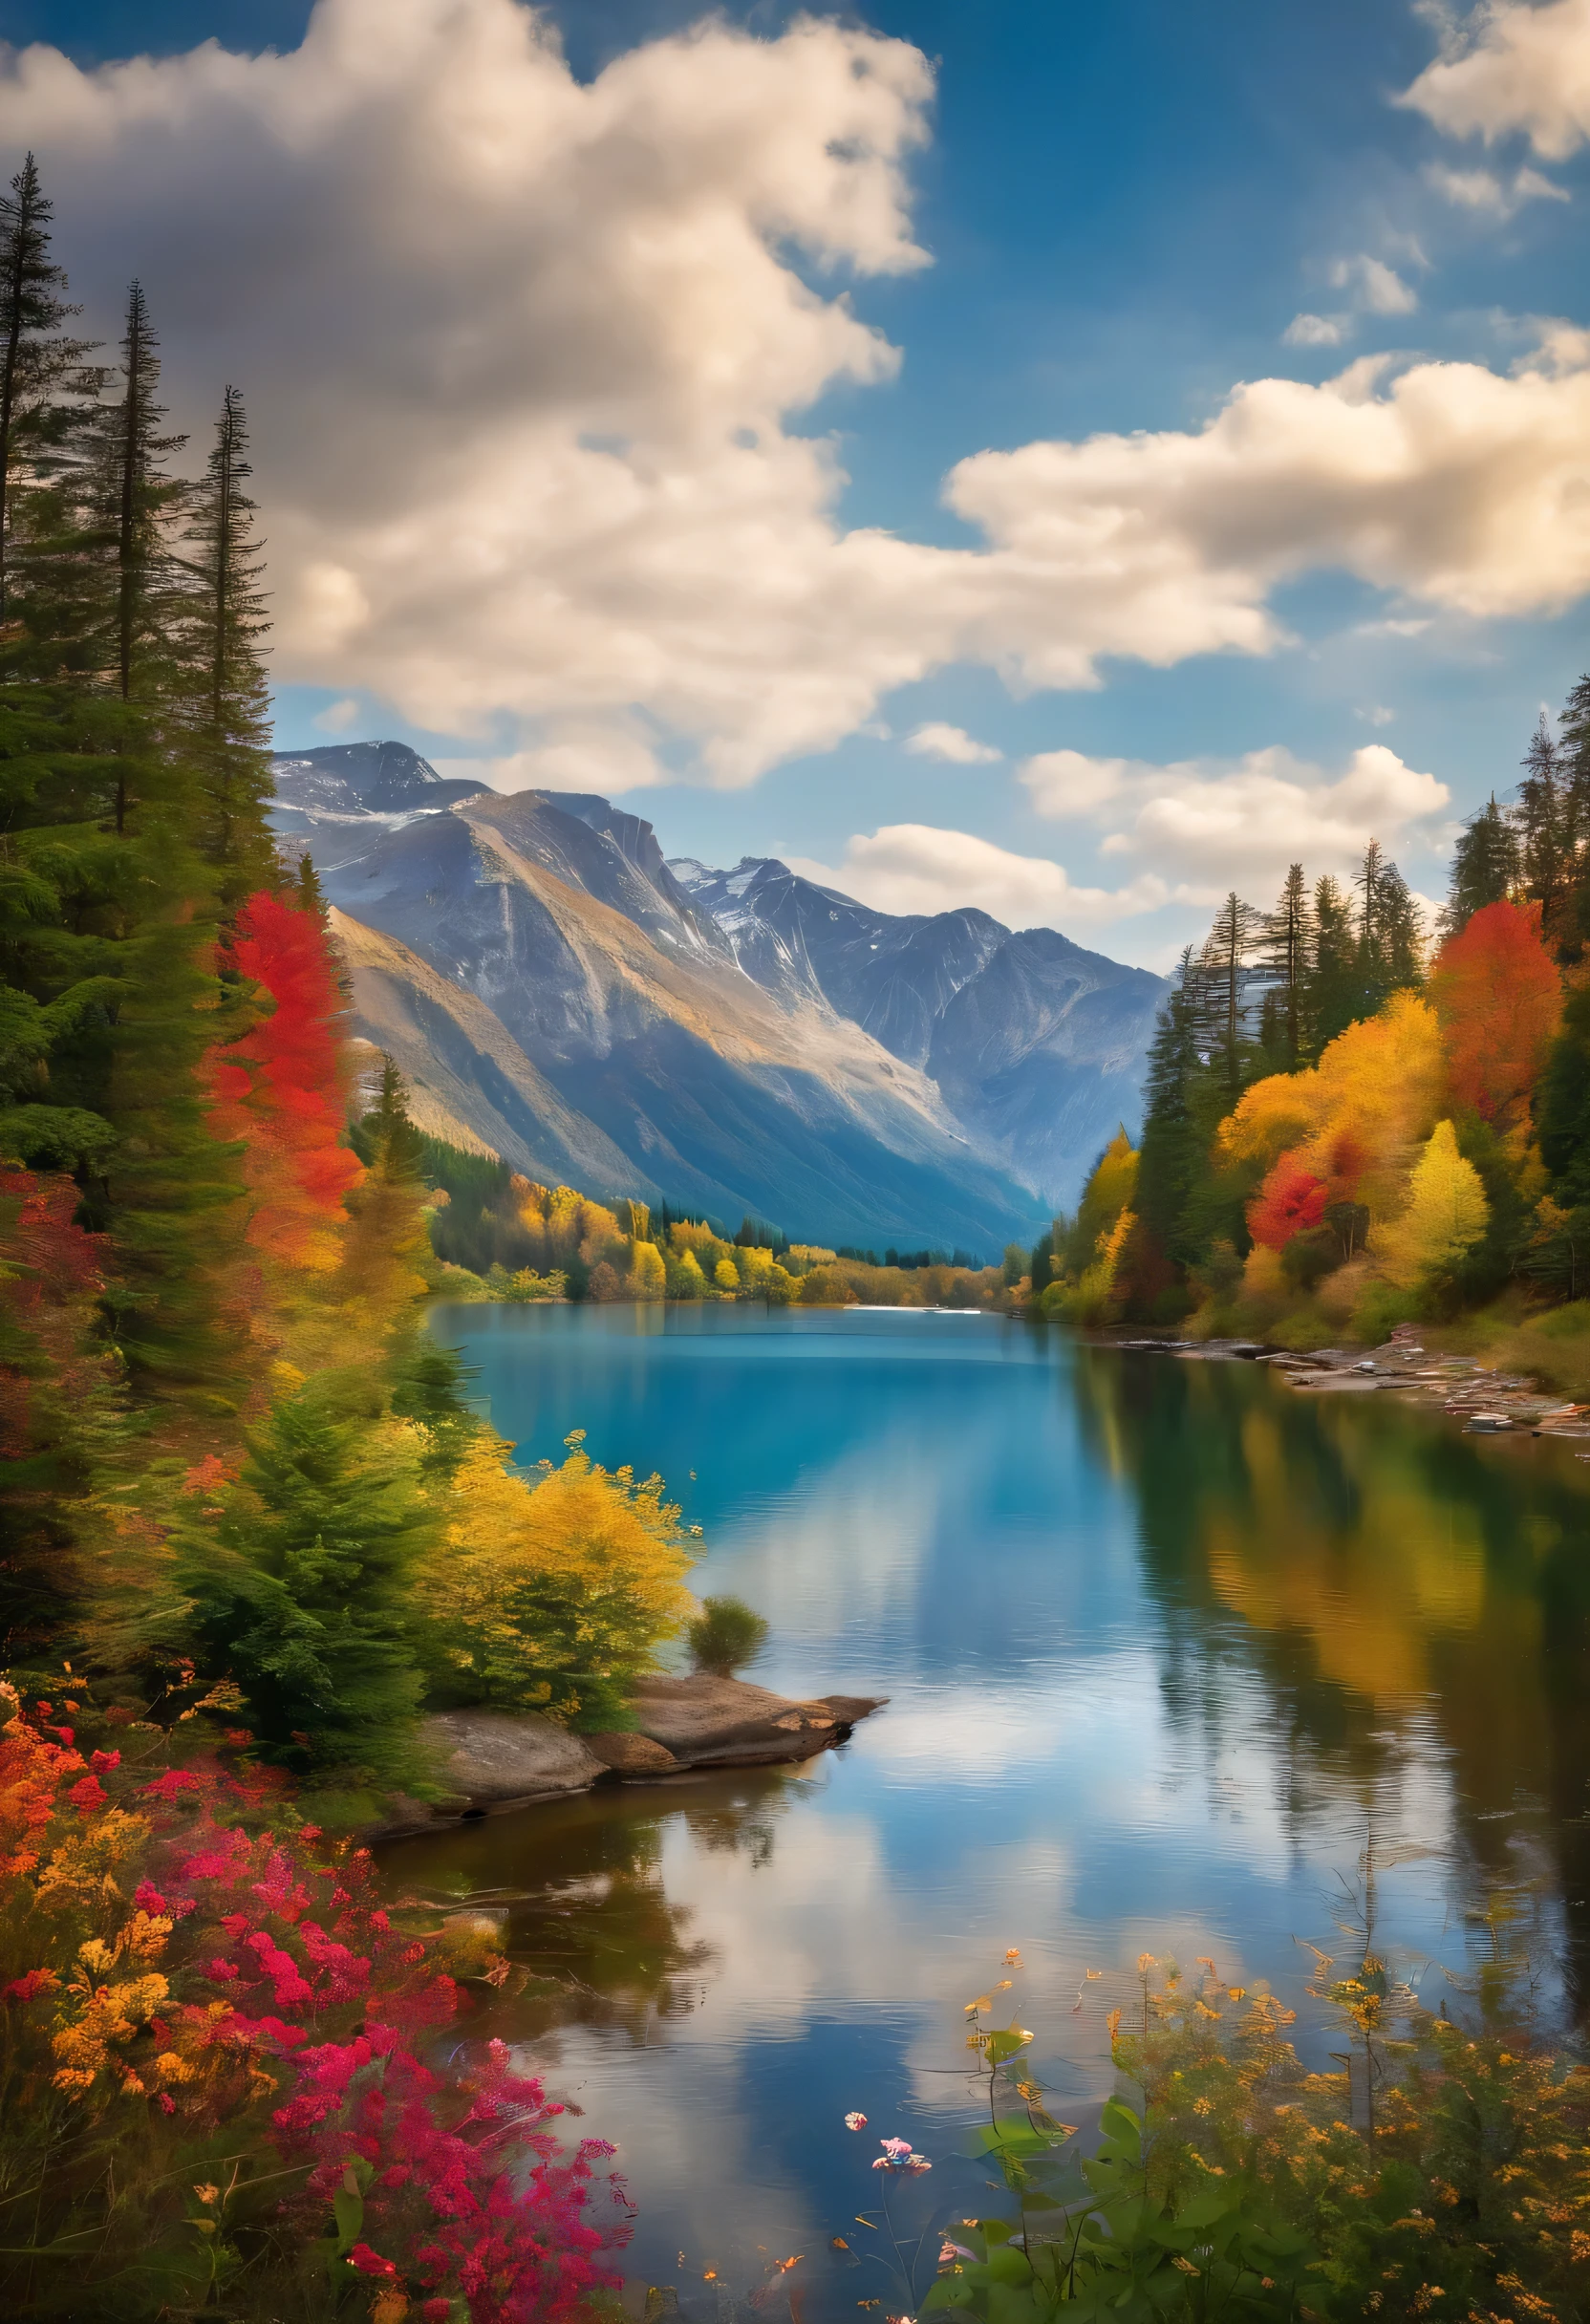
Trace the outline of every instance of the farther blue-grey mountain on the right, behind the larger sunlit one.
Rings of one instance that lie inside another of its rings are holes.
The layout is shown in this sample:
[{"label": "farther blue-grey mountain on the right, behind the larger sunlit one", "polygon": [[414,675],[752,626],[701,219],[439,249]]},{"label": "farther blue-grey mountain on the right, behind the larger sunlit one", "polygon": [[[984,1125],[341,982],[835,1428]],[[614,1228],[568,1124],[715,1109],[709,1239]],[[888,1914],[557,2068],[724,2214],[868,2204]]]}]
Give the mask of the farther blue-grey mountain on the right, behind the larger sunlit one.
[{"label": "farther blue-grey mountain on the right, behind the larger sunlit one", "polygon": [[732,871],[676,858],[672,871],[749,976],[823,995],[923,1067],[951,1113],[1055,1202],[1076,1199],[1118,1122],[1137,1129],[1162,976],[1053,927],[1011,934],[986,911],[869,911],[772,858]]}]

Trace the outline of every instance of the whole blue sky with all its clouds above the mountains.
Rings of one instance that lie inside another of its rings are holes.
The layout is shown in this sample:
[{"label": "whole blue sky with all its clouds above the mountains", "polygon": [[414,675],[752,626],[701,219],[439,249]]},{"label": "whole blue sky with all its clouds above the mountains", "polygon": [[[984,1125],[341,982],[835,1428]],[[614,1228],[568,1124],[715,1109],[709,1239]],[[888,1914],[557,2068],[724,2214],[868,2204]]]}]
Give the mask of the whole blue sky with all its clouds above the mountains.
[{"label": "whole blue sky with all its clouds above the mountains", "polygon": [[1590,665],[1590,0],[0,0],[277,741],[1167,967]]}]

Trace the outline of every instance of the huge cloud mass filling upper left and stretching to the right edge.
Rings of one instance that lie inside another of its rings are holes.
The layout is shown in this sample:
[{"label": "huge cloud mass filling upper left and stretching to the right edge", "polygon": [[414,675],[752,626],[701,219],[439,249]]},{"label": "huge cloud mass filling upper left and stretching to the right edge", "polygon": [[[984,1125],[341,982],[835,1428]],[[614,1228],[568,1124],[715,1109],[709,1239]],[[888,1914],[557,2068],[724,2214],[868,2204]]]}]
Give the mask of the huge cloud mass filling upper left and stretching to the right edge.
[{"label": "huge cloud mass filling upper left and stretching to the right edge", "polygon": [[895,376],[848,286],[925,263],[930,95],[916,49],[832,21],[709,21],[581,84],[516,0],[318,0],[284,56],[12,53],[0,137],[100,328],[144,277],[184,423],[246,388],[277,674],[507,732],[530,781],[744,783],[951,660],[1032,688],[1269,653],[1313,567],[1471,616],[1590,588],[1562,349],[974,453],[946,500],[981,546],[844,530],[793,416]]}]

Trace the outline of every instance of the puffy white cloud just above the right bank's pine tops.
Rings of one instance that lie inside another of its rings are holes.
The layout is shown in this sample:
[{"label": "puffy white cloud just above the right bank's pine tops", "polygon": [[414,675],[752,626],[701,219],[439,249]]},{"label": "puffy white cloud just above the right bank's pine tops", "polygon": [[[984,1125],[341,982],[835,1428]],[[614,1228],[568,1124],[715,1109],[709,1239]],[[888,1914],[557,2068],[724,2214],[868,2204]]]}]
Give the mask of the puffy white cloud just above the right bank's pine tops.
[{"label": "puffy white cloud just above the right bank's pine tops", "polygon": [[1044,751],[1020,769],[1032,806],[1102,830],[1100,855],[1141,865],[1176,902],[1213,902],[1232,881],[1265,899],[1290,862],[1309,874],[1351,871],[1369,837],[1388,848],[1432,846],[1446,783],[1406,767],[1385,744],[1365,744],[1339,776],[1251,751],[1237,767]]}]

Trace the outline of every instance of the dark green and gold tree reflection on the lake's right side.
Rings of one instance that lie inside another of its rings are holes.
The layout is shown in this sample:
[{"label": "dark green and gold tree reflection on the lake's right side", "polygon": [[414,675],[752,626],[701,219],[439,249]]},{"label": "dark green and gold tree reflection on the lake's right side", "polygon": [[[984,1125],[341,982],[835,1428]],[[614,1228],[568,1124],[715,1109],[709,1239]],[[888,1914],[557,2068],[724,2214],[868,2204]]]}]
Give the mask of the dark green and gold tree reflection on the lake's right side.
[{"label": "dark green and gold tree reflection on the lake's right side", "polygon": [[1299,1831],[1330,1792],[1367,1817],[1406,1808],[1439,1755],[1469,1896],[1525,1873],[1560,1894],[1583,2015],[1590,1478],[1571,1448],[1306,1399],[1237,1364],[1086,1350],[1074,1378],[1139,1499],[1172,1717],[1213,1750],[1223,1664],[1255,1671]]}]

